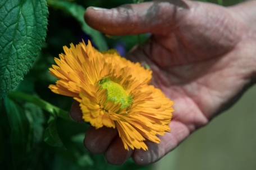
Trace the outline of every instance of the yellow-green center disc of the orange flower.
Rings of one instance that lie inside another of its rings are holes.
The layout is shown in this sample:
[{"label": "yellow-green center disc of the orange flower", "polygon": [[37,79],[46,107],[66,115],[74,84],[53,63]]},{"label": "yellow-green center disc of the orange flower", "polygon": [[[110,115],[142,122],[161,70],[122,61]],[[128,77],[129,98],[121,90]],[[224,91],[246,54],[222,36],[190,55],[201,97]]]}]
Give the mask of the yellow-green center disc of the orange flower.
[{"label": "yellow-green center disc of the orange flower", "polygon": [[121,107],[125,108],[132,104],[132,97],[127,95],[125,89],[118,83],[112,82],[109,78],[103,79],[99,82],[102,85],[102,88],[107,88],[107,100],[115,101],[116,103],[121,103]]}]

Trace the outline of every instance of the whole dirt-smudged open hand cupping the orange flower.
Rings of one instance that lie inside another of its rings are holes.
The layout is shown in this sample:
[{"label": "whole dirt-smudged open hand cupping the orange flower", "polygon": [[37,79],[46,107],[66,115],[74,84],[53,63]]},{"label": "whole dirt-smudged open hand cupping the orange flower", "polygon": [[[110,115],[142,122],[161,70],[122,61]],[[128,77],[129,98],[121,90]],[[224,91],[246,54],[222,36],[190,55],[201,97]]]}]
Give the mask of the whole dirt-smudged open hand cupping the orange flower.
[{"label": "whole dirt-smudged open hand cupping the orange flower", "polygon": [[[116,129],[110,128],[90,127],[85,147],[92,153],[104,153],[110,164],[120,165],[130,157],[136,164],[151,164],[231,107],[255,82],[255,11],[256,1],[228,8],[194,1],[88,8],[86,23],[104,34],[152,33],[127,58],[149,65],[152,84],[174,101],[175,112],[171,133],[159,136],[160,144],[145,141],[147,151],[124,150]],[[70,113],[72,119],[83,121],[76,101]]]}]

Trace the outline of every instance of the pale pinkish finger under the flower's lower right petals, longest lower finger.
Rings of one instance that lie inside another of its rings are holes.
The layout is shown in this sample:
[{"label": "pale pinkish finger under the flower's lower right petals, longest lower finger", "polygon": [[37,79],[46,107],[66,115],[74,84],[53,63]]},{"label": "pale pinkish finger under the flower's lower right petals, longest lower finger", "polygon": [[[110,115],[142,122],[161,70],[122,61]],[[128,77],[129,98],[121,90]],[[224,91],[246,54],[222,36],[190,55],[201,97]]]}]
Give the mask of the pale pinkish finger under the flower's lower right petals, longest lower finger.
[{"label": "pale pinkish finger under the flower's lower right petals, longest lower finger", "polygon": [[182,140],[184,140],[190,133],[189,129],[181,122],[171,122],[171,133],[166,133],[164,136],[159,136],[161,142],[159,144],[152,141],[145,141],[148,150],[135,149],[132,159],[136,164],[145,166],[157,162],[164,155],[175,149]]}]

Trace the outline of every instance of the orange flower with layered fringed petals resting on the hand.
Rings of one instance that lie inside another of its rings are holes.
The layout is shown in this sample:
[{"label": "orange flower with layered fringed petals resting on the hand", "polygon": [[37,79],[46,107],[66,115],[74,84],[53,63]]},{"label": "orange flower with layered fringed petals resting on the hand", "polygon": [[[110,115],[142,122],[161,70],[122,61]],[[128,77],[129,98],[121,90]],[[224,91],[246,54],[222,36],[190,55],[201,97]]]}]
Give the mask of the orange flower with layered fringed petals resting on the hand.
[{"label": "orange flower with layered fringed petals resting on the hand", "polygon": [[50,73],[59,78],[49,88],[74,97],[83,119],[96,129],[117,128],[125,149],[147,150],[144,140],[159,143],[157,135],[169,132],[173,102],[149,85],[152,71],[122,58],[115,50],[100,53],[90,41],[55,58]]}]

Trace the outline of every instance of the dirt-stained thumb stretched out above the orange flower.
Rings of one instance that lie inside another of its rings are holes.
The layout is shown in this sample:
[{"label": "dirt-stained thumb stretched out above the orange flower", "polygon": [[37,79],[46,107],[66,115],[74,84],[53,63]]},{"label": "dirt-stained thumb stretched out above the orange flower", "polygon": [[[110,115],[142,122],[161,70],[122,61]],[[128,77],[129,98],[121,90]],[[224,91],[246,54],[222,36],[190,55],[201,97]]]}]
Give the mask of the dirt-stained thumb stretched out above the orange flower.
[{"label": "dirt-stained thumb stretched out above the orange flower", "polygon": [[[174,29],[176,22],[189,8],[184,1],[153,1],[126,4],[110,10],[87,8],[84,19],[89,26],[109,35],[163,34]],[[159,31],[161,30],[161,31]]]}]

